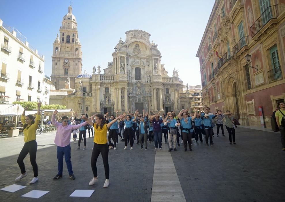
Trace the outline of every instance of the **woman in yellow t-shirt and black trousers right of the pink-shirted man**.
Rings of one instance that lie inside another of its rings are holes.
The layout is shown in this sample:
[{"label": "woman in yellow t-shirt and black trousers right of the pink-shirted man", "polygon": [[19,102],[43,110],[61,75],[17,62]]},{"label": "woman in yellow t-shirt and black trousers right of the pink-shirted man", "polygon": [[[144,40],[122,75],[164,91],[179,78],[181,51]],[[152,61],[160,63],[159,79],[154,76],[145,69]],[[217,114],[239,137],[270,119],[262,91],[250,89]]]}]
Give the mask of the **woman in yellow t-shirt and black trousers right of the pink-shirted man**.
[{"label": "woman in yellow t-shirt and black trousers right of the pink-shirted man", "polygon": [[92,156],[91,156],[91,168],[92,168],[94,177],[90,180],[89,185],[93,185],[98,181],[96,162],[97,162],[97,159],[100,153],[103,158],[105,177],[106,177],[103,187],[107,188],[110,184],[109,183],[109,162],[108,162],[109,147],[107,145],[107,131],[108,131],[108,128],[112,126],[112,124],[114,124],[116,121],[122,118],[123,118],[123,115],[120,115],[116,119],[112,120],[109,124],[107,124],[103,115],[97,114],[95,115],[94,124],[91,121],[87,121],[90,125],[93,124],[93,128],[94,128],[94,147],[93,147]]}]

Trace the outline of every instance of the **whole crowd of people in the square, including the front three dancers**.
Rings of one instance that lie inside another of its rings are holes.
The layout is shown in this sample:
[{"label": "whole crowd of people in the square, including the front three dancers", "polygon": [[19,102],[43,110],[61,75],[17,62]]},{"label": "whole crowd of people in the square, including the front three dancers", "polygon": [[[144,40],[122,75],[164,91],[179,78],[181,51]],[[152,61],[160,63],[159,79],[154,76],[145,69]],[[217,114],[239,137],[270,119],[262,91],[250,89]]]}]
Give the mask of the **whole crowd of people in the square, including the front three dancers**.
[{"label": "whole crowd of people in the square, including the front three dancers", "polygon": [[[37,105],[38,110],[35,118],[32,115],[25,116],[25,111],[27,109],[24,110],[21,116],[21,121],[25,123],[23,126],[24,146],[17,160],[21,175],[15,179],[18,181],[27,176],[23,160],[29,153],[34,172],[34,177],[30,184],[38,181],[36,163],[37,142],[35,131],[40,120],[41,102],[38,102]],[[279,106],[280,110],[276,111],[275,118],[281,133],[282,150],[285,150],[285,104],[281,102]],[[58,173],[53,178],[54,180],[58,180],[63,176],[63,157],[65,157],[70,179],[76,179],[71,164],[70,137],[72,134],[74,143],[76,143],[77,133],[79,133],[78,147],[76,150],[80,150],[82,139],[84,139],[83,150],[86,150],[87,129],[89,137],[90,130],[92,136],[94,135],[94,145],[91,155],[93,177],[90,180],[89,185],[93,185],[98,181],[96,162],[101,154],[105,169],[104,188],[107,188],[110,185],[110,169],[108,163],[109,149],[117,149],[118,136],[120,136],[120,141],[124,142],[124,150],[128,148],[128,144],[130,144],[130,150],[133,150],[133,144],[136,139],[136,144],[140,144],[141,149],[145,148],[145,150],[148,150],[148,145],[150,147],[151,143],[154,142],[154,151],[162,150],[162,139],[164,136],[165,143],[168,143],[169,145],[169,152],[178,151],[176,145],[180,147],[179,138],[182,139],[181,143],[184,145],[184,151],[187,152],[188,149],[189,151],[192,151],[192,140],[203,143],[202,135],[205,137],[205,145],[213,146],[214,126],[217,126],[217,136],[219,136],[220,129],[222,131],[222,136],[225,136],[225,124],[229,133],[229,143],[236,144],[235,128],[237,127],[236,125],[238,125],[238,121],[234,119],[230,111],[222,113],[222,111],[219,110],[217,113],[213,114],[210,112],[209,107],[206,107],[203,112],[199,109],[195,109],[194,113],[188,113],[188,110],[182,109],[178,115],[176,115],[175,112],[169,112],[166,115],[160,115],[160,113],[154,114],[153,112],[148,114],[148,112],[145,112],[144,110],[142,114],[139,114],[139,111],[136,110],[134,113],[128,111],[128,113],[123,113],[119,116],[118,111],[116,111],[116,116],[109,116],[109,113],[106,113],[104,116],[101,114],[94,114],[92,117],[88,118],[88,115],[85,112],[85,114],[80,116],[80,119],[76,118],[76,114],[75,118],[63,116],[56,120],[55,116],[57,113],[58,111],[55,110],[51,120],[52,124],[57,128],[54,143],[57,145]],[[73,122],[77,122],[78,124],[72,124]]]}]

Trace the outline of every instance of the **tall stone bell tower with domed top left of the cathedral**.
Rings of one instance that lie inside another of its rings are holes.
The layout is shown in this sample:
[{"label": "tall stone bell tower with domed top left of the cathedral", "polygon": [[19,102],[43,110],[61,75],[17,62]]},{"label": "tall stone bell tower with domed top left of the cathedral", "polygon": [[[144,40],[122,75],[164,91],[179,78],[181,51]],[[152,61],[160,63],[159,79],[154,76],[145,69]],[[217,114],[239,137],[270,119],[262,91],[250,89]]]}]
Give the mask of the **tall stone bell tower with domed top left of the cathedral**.
[{"label": "tall stone bell tower with domed top left of the cathedral", "polygon": [[65,88],[70,78],[70,87],[75,88],[75,78],[82,70],[81,43],[78,38],[77,22],[69,5],[68,13],[63,17],[56,40],[53,43],[52,75],[56,89]]}]

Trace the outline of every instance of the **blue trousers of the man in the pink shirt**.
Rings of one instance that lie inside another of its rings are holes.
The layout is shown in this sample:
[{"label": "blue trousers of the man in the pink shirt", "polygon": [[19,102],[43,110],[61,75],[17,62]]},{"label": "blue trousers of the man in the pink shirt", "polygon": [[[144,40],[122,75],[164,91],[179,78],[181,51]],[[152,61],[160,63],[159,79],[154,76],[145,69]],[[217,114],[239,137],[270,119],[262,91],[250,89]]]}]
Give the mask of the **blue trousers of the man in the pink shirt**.
[{"label": "blue trousers of the man in the pink shirt", "polygon": [[[79,140],[80,141],[80,140]],[[57,151],[57,160],[58,160],[58,175],[62,175],[62,170],[63,170],[63,155],[65,158],[66,166],[69,175],[73,174],[72,171],[72,165],[71,165],[71,149],[70,149],[70,144],[65,146],[65,147],[56,147]]]}]

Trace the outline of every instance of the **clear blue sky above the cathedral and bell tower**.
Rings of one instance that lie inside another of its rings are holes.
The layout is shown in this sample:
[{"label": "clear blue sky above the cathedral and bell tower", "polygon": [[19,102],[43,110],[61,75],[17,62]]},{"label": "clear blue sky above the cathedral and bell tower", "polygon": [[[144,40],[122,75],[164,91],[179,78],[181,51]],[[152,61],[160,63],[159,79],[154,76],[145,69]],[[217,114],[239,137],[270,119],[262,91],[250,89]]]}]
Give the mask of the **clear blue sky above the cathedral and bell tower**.
[{"label": "clear blue sky above the cathedral and bell tower", "polygon": [[[72,2],[82,44],[82,71],[94,65],[107,68],[114,47],[125,32],[141,29],[158,44],[161,64],[172,76],[173,68],[186,85],[201,84],[196,56],[215,0],[79,1]],[[52,44],[70,1],[1,0],[0,18],[16,27],[45,56],[45,74],[51,75]],[[5,9],[4,9],[5,8]]]}]

